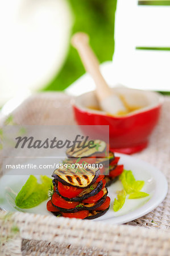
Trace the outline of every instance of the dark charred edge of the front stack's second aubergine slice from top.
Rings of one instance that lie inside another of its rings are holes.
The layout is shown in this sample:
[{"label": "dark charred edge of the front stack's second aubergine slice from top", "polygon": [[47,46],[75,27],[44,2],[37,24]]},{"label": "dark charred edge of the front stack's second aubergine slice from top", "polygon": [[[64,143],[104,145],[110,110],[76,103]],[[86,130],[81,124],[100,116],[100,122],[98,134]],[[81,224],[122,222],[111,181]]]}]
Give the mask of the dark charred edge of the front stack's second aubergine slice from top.
[{"label": "dark charred edge of the front stack's second aubergine slice from top", "polygon": [[[53,183],[53,185],[54,185],[55,188],[56,188],[56,193],[57,193],[59,196],[61,196],[60,193],[59,193],[57,184],[55,183],[55,180],[53,180],[52,183]],[[102,181],[99,181],[99,183],[98,183],[98,185],[97,185],[96,188],[94,188],[90,193],[86,193],[86,194],[83,195],[83,196],[80,196],[80,197],[77,196],[77,197],[73,197],[73,198],[68,198],[68,197],[65,197],[65,196],[61,196],[61,197],[62,197],[63,199],[65,199],[66,201],[80,202],[80,201],[82,201],[82,200],[85,200],[85,199],[89,198],[90,196],[95,196],[95,195],[97,195],[97,193],[98,193],[99,191],[101,191],[102,186],[103,186]]]}]

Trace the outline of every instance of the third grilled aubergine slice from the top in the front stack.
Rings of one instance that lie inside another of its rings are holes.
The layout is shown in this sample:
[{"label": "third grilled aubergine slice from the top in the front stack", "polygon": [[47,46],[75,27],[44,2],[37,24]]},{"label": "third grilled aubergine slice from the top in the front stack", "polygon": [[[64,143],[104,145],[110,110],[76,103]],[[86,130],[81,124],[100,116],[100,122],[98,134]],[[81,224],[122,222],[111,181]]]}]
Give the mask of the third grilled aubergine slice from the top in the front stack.
[{"label": "third grilled aubergine slice from the top in the front stack", "polygon": [[103,196],[101,197],[101,199],[99,199],[95,203],[80,202],[80,205],[77,205],[77,207],[72,208],[72,209],[65,209],[65,208],[57,207],[53,203],[52,203],[52,205],[54,207],[56,207],[57,209],[59,209],[60,212],[68,212],[68,213],[79,212],[80,210],[94,210],[94,209],[100,207],[105,202],[105,200],[106,200],[107,193],[108,193],[107,188],[103,188],[102,190],[103,190]]}]

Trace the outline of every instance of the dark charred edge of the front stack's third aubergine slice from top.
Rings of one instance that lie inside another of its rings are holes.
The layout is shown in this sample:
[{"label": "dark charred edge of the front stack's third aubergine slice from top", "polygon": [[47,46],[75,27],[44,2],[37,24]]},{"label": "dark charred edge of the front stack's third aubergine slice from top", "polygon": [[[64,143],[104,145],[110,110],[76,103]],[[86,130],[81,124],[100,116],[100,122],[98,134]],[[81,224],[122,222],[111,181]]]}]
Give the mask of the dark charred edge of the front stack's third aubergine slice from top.
[{"label": "dark charred edge of the front stack's third aubergine slice from top", "polygon": [[[108,193],[108,191],[107,191],[107,193]],[[56,207],[58,210],[60,210],[60,212],[75,213],[75,212],[80,212],[80,210],[95,210],[96,208],[100,207],[104,203],[104,201],[106,200],[106,197],[107,197],[107,193],[101,199],[99,199],[97,201],[97,204],[94,205],[93,207],[83,206],[83,207],[75,207],[75,208],[72,208],[72,209],[65,209],[65,208],[57,207],[52,202],[51,203],[54,207]]]}]

